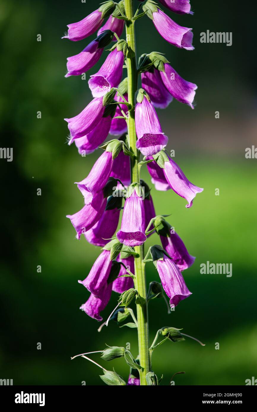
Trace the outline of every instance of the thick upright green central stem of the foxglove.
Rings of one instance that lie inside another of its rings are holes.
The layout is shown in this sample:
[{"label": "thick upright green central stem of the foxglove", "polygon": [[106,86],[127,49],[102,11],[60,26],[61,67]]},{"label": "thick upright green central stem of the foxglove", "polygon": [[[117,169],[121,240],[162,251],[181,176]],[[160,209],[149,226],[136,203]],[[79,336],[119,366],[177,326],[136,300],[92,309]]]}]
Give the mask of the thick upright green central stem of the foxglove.
[{"label": "thick upright green central stem of the foxglove", "polygon": [[[128,112],[128,139],[130,150],[134,152],[134,159],[131,161],[132,182],[140,183],[139,176],[139,152],[136,148],[137,135],[135,127],[135,112],[134,112],[134,96],[137,91],[137,63],[136,63],[136,43],[134,21],[134,5],[133,0],[125,0],[125,13],[128,21],[126,21],[126,35],[129,46],[129,54],[127,56],[127,80],[128,80],[128,102],[132,109]],[[134,258],[135,262],[135,288],[140,296],[146,299],[146,276],[144,270],[144,246],[135,246],[135,252],[139,257]],[[147,304],[143,307],[137,304],[137,323],[138,323],[138,346],[139,360],[142,370],[140,371],[140,385],[147,385],[146,374],[150,371],[149,359],[149,330],[148,330],[148,311]]]}]

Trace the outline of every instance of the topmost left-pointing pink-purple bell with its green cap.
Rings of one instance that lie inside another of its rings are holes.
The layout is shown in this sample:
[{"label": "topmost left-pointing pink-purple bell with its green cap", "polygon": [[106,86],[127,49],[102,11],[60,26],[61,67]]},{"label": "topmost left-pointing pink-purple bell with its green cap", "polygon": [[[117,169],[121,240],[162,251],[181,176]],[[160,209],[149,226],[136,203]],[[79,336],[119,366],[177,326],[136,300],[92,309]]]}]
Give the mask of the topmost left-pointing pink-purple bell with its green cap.
[{"label": "topmost left-pointing pink-purple bell with its green cap", "polygon": [[101,5],[99,9],[94,10],[94,12],[85,17],[85,19],[77,23],[68,24],[68,33],[62,37],[62,39],[69,39],[76,42],[90,36],[99,29],[104,18],[110,16],[115,7],[113,1],[106,2]]}]

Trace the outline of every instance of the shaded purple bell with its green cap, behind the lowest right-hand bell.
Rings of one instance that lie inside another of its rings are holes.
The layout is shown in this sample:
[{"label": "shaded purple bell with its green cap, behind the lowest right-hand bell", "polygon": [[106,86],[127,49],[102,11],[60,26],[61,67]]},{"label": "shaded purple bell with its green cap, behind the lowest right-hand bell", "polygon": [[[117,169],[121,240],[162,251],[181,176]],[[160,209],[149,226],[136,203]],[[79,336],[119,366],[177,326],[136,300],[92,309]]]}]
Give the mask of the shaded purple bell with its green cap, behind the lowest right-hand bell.
[{"label": "shaded purple bell with its green cap, behind the lowest right-hand bell", "polygon": [[157,234],[160,236],[163,249],[173,259],[180,272],[193,265],[195,258],[189,255],[182,239],[163,216],[157,216],[153,223]]}]

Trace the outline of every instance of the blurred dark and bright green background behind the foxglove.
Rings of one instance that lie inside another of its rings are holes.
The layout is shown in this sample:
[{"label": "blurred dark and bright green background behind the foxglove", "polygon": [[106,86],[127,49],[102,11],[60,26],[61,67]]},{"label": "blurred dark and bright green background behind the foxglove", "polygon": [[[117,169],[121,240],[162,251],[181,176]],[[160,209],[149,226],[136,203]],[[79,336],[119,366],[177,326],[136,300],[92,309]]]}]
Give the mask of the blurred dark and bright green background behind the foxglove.
[{"label": "blurred dark and bright green background behind the foxglove", "polygon": [[[12,162],[0,160],[0,378],[13,379],[14,384],[102,385],[100,369],[70,357],[103,349],[105,342],[130,342],[137,356],[135,330],[110,323],[98,333],[97,321],[79,310],[89,293],[78,279],[87,276],[100,250],[85,239],[77,241],[65,217],[83,206],[73,182],[87,176],[100,151],[84,158],[75,145],[68,147],[63,120],[77,115],[91,99],[87,81],[64,75],[67,56],[79,53],[94,35],[80,42],[61,36],[66,24],[83,19],[97,4],[0,3],[1,147],[13,147],[14,157]],[[163,52],[182,77],[198,84],[195,110],[174,100],[158,115],[175,161],[194,184],[204,187],[191,209],[174,192],[152,188],[156,213],[171,214],[170,223],[196,261],[184,272],[193,293],[189,299],[170,315],[163,300],[150,302],[150,339],[159,328],[174,326],[206,344],[191,339],[166,342],[153,353],[153,370],[158,376],[163,373],[166,385],[179,371],[186,373],[174,378],[176,385],[244,385],[245,379],[257,377],[257,160],[245,159],[245,148],[257,146],[255,24],[249,15],[242,18],[241,7],[232,1],[191,4],[194,16],[165,12],[182,26],[193,27],[193,52],[167,44],[147,17],[136,28],[138,55]],[[207,29],[233,32],[233,45],[200,43],[200,33]],[[103,61],[104,56],[87,79]],[[143,177],[151,183],[146,169]],[[156,234],[147,245],[154,243]],[[200,274],[200,264],[207,260],[232,263],[232,277]],[[42,273],[37,273],[37,265]],[[146,268],[147,280],[158,280],[153,265]],[[117,297],[113,293],[104,319]],[[97,355],[92,358],[99,361]],[[123,360],[104,365],[113,366],[127,379]]]}]

